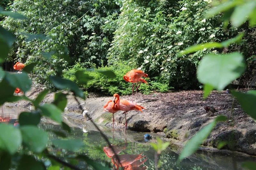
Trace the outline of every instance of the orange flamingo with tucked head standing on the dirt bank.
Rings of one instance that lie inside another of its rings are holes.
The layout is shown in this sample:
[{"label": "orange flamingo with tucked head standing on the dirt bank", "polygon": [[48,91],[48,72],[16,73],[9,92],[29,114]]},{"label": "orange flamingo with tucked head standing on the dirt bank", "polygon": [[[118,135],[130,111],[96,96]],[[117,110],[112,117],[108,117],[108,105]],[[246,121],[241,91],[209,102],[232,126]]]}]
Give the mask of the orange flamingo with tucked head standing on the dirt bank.
[{"label": "orange flamingo with tucked head standing on the dirt bank", "polygon": [[140,84],[141,84],[143,82],[143,83],[148,84],[148,82],[146,82],[146,80],[144,80],[145,78],[142,79],[142,77],[146,78],[146,77],[148,77],[148,74],[145,74],[143,71],[137,70],[137,69],[133,69],[133,70],[127,72],[123,77],[126,82],[132,83],[132,102],[133,102],[134,83],[137,83],[136,97],[135,97],[136,104],[137,104],[137,91],[138,91],[138,88],[140,88],[140,85],[138,85],[138,83],[140,82]]}]

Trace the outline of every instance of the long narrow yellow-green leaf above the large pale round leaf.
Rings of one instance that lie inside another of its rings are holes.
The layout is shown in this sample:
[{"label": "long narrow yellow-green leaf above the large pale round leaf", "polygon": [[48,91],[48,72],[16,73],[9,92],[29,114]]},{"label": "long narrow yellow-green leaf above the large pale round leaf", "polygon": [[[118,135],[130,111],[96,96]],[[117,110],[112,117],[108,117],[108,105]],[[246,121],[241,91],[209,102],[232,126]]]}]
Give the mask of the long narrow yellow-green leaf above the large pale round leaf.
[{"label": "long narrow yellow-green leaf above the large pale round leaf", "polygon": [[189,53],[194,53],[199,50],[203,50],[204,48],[209,49],[209,48],[223,48],[223,47],[228,47],[232,43],[240,43],[241,39],[244,37],[244,33],[238,34],[236,37],[231,38],[227,41],[223,42],[207,42],[203,44],[198,44],[194,46],[190,46],[186,48],[184,51],[180,52],[178,57],[189,54]]}]

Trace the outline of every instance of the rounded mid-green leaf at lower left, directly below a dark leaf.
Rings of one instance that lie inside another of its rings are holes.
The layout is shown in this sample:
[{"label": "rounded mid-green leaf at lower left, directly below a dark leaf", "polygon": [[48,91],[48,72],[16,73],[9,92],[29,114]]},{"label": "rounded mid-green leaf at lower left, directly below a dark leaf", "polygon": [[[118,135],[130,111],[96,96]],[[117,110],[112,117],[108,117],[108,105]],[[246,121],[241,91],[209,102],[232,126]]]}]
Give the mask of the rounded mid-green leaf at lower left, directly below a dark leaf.
[{"label": "rounded mid-green leaf at lower left, directly below a dark leaf", "polygon": [[42,152],[48,142],[48,134],[33,125],[26,125],[20,127],[23,143],[33,152]]}]

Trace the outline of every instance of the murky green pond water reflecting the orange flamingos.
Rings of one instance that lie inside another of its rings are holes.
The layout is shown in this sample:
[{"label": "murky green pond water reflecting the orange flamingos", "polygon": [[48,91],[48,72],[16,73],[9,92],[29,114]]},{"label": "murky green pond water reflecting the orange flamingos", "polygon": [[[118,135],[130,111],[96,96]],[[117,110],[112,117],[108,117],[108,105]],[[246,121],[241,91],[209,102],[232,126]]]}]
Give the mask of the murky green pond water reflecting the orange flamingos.
[{"label": "murky green pond water reflecting the orange flamingos", "polygon": [[[8,114],[2,112],[0,116],[0,122],[8,122],[10,124],[16,125],[17,110],[8,109]],[[15,113],[16,112],[16,113]],[[64,118],[65,119],[65,118]],[[60,125],[51,124],[47,122],[42,122],[39,124],[42,129],[53,129],[57,131],[62,131]],[[119,158],[122,161],[122,165],[125,166],[124,169],[129,170],[153,170],[154,169],[154,154],[155,151],[149,144],[150,142],[155,142],[154,133],[150,133],[152,139],[146,141],[143,139],[145,133],[134,132],[126,130],[124,135],[124,130],[100,127],[103,132],[107,135],[109,141],[118,153]],[[84,142],[84,148],[72,152],[63,149],[53,148],[51,145],[51,140],[57,139],[54,133],[49,132],[49,144],[48,148],[50,152],[54,152],[55,155],[61,157],[62,159],[69,159],[68,155],[82,154],[87,155],[89,158],[100,162],[104,166],[109,166],[113,169],[113,165],[117,164],[116,156],[113,155],[111,150],[108,148],[107,143],[101,137],[100,133],[95,130],[92,124],[86,124],[81,122],[80,126],[71,127],[71,133],[67,134],[70,139],[80,139]],[[245,157],[239,154],[231,154],[225,152],[206,152],[197,151],[195,154],[189,158],[184,159],[179,165],[176,160],[179,156],[181,148],[176,145],[171,145],[160,156],[162,162],[160,170],[233,170],[234,164],[236,164],[237,169],[243,169],[241,165],[245,161],[256,161],[255,157]],[[45,160],[45,164],[49,165],[50,161]],[[92,169],[92,167],[86,166],[85,162],[77,162],[77,166],[81,169]],[[117,166],[115,166],[117,168]],[[122,169],[122,168],[119,168]]]}]

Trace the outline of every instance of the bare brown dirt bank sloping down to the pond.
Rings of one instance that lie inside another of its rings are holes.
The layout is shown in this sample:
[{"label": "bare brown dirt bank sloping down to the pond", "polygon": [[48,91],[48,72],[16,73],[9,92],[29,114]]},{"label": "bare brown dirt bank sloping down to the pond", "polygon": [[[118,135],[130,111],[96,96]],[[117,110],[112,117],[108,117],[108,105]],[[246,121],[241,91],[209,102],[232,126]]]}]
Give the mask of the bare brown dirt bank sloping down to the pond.
[{"label": "bare brown dirt bank sloping down to the pond", "polygon": [[[245,89],[240,89],[246,91]],[[26,93],[34,99],[41,89],[32,88]],[[202,99],[203,91],[175,91],[169,93],[153,93],[151,95],[138,94],[137,104],[146,108],[143,113],[129,111],[127,114],[127,126],[131,130],[144,132],[164,132],[165,137],[174,139],[177,144],[184,145],[186,141],[196,134],[201,128],[210,123],[214,117],[225,115],[226,122],[219,122],[212,133],[203,142],[205,146],[217,146],[222,141],[228,142],[224,149],[245,152],[256,155],[256,125],[241,109],[239,103],[225,91],[213,91],[206,100]],[[132,96],[120,96],[121,99],[132,100]],[[103,111],[103,106],[112,96],[100,96],[92,94],[87,100],[80,100],[82,107],[89,111],[90,117],[97,123],[112,127],[112,114]],[[47,94],[42,103],[54,100],[54,93]],[[8,107],[15,107],[17,103],[7,103]],[[28,109],[31,104],[28,101],[20,101],[20,107]],[[205,106],[215,107],[218,111],[213,116],[204,112]],[[83,115],[74,97],[68,95],[68,104],[63,116],[81,120]],[[229,119],[230,115],[230,119]],[[124,128],[125,117],[122,112],[115,113],[115,128]],[[161,133],[160,133],[161,134]]]}]

